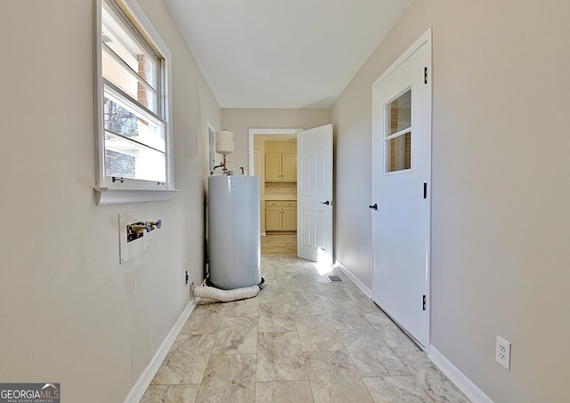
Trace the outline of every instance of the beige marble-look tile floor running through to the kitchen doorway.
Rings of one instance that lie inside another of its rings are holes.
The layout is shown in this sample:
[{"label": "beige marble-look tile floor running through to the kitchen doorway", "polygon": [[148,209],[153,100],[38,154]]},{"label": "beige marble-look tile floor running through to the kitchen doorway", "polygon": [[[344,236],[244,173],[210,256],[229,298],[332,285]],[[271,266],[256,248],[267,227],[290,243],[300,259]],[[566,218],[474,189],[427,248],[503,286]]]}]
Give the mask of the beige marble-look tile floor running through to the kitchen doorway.
[{"label": "beige marble-look tile floor running through to the kitchen doorway", "polygon": [[469,401],[341,270],[298,259],[295,239],[263,237],[255,298],[197,303],[143,403]]}]

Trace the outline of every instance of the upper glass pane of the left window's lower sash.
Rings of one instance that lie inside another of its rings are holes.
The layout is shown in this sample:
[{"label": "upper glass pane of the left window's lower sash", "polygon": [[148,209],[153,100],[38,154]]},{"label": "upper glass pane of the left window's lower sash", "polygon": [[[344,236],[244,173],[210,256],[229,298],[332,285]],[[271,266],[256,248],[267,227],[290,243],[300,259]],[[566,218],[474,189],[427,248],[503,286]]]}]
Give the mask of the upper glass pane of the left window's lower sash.
[{"label": "upper glass pane of the left window's lower sash", "polygon": [[126,103],[110,99],[110,94],[105,95],[103,113],[106,130],[129,137],[161,152],[166,150],[164,125],[137,114]]}]

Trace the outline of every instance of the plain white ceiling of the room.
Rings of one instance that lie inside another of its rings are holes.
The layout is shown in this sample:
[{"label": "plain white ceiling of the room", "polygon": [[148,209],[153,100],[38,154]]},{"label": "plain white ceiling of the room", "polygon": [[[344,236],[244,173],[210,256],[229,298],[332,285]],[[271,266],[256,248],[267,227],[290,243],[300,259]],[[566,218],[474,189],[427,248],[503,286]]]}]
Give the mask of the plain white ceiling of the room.
[{"label": "plain white ceiling of the room", "polygon": [[329,108],[411,0],[165,0],[221,108]]}]

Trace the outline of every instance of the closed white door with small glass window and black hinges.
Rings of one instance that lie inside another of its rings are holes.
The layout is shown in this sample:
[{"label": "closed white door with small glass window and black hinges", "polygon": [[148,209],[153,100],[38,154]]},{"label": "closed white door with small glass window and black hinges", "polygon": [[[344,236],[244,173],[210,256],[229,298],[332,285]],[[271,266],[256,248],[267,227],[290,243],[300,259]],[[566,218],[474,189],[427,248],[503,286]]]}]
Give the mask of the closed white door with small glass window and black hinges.
[{"label": "closed white door with small glass window and black hinges", "polygon": [[429,342],[430,67],[427,33],[372,89],[372,296],[423,347]]}]

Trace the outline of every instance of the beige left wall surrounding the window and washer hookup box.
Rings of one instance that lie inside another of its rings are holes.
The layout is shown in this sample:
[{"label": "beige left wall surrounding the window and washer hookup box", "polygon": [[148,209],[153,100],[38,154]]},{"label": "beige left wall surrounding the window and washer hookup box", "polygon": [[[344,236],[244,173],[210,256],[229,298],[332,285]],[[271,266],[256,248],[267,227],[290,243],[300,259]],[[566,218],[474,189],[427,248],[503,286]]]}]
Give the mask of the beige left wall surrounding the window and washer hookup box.
[{"label": "beige left wall surrounding the window and washer hookup box", "polygon": [[[0,380],[61,401],[125,399],[203,278],[207,124],[221,113],[163,2],[140,0],[174,58],[174,201],[94,205],[92,0],[2,2]],[[118,214],[163,227],[119,265]]]}]

